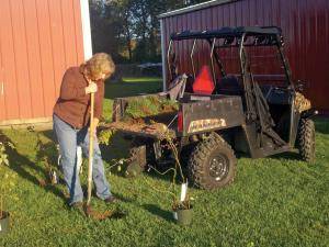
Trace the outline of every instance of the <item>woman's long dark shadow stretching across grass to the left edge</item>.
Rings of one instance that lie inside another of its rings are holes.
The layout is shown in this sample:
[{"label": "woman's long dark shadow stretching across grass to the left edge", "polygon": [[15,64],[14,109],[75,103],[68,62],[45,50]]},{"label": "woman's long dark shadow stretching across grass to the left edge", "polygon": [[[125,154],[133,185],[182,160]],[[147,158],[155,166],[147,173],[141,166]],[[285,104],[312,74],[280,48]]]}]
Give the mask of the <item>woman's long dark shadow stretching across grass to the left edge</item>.
[{"label": "woman's long dark shadow stretching across grass to the left edge", "polygon": [[[1,139],[13,143],[8,136],[0,132]],[[31,161],[27,157],[21,155],[15,148],[8,148],[9,168],[15,171],[22,179],[29,180],[37,187],[44,188],[65,201],[63,191],[54,186],[48,186],[45,180],[38,179],[34,173],[41,173],[44,178],[48,178],[47,170]],[[30,170],[33,171],[30,171]]]}]

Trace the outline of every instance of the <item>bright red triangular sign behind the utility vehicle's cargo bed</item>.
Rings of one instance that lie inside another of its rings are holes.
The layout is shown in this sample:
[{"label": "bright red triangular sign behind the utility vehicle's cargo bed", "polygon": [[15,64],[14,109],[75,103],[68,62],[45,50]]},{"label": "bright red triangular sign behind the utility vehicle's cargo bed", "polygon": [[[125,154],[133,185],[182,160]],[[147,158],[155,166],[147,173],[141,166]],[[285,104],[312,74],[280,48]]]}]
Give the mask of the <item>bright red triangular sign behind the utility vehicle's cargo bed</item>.
[{"label": "bright red triangular sign behind the utility vehicle's cargo bed", "polygon": [[215,85],[213,81],[213,77],[211,74],[209,66],[204,65],[201,68],[201,72],[195,78],[195,81],[193,83],[193,92],[201,93],[201,94],[212,94]]}]

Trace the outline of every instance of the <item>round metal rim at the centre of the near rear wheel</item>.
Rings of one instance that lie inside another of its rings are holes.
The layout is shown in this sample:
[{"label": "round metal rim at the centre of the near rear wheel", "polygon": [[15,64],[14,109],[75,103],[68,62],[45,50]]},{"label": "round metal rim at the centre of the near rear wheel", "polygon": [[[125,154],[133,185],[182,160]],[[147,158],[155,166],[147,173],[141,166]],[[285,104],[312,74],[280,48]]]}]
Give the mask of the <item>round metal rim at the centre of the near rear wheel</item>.
[{"label": "round metal rim at the centre of the near rear wheel", "polygon": [[219,154],[211,158],[209,176],[217,182],[227,177],[229,161],[226,156]]}]

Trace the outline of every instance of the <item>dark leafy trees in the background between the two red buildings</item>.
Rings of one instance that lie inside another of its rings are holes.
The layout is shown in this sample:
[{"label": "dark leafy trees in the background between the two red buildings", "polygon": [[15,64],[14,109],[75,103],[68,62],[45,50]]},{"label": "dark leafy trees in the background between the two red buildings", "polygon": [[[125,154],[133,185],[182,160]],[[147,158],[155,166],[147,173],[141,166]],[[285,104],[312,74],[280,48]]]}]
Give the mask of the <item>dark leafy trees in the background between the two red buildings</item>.
[{"label": "dark leafy trees in the background between the two red buildings", "polygon": [[157,16],[202,1],[90,0],[93,50],[110,53],[117,63],[160,61]]}]

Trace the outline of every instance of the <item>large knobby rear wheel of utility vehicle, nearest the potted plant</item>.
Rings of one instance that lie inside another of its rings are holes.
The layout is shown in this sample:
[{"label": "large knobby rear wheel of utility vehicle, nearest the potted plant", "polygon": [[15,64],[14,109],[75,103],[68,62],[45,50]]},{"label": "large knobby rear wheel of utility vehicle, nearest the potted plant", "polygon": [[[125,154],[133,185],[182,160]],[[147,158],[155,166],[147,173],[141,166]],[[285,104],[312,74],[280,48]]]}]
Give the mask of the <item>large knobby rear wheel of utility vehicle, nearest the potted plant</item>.
[{"label": "large knobby rear wheel of utility vehicle, nearest the potted plant", "polygon": [[190,157],[190,179],[202,189],[222,188],[234,180],[236,164],[231,147],[218,134],[212,133]]}]

